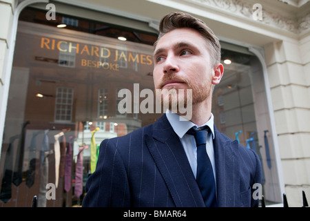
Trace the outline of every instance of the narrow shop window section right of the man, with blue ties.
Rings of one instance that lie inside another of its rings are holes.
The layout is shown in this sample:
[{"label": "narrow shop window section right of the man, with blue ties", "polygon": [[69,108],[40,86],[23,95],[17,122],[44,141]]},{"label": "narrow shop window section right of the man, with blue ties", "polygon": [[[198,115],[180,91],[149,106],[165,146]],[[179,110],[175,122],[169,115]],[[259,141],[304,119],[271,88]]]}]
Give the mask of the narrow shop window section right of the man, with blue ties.
[{"label": "narrow shop window section right of the man, with blue ties", "polygon": [[262,66],[246,48],[225,42],[221,45],[225,71],[214,88],[214,124],[219,131],[258,154],[265,202],[281,202]]}]

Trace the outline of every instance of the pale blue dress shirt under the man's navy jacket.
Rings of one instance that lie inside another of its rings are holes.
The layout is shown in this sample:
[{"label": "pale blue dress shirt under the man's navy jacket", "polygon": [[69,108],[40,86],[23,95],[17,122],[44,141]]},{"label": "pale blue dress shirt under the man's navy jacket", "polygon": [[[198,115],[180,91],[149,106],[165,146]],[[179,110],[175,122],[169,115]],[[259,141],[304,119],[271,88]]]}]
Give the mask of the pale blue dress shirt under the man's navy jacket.
[{"label": "pale blue dress shirt under the man's navy jacket", "polygon": [[[174,129],[174,132],[176,132],[176,134],[178,135],[178,138],[180,139],[180,142],[183,144],[183,148],[187,155],[187,159],[189,161],[189,164],[196,178],[196,171],[197,171],[196,141],[193,135],[187,134],[187,131],[193,126],[197,126],[197,125],[194,124],[193,122],[188,121],[184,117],[181,117],[180,115],[177,115],[176,113],[173,113],[172,111],[167,111],[166,115],[167,115],[167,119],[169,123]],[[183,119],[180,120],[180,117]],[[210,119],[201,126],[206,126],[206,125],[209,126],[209,128],[211,129],[211,133],[208,133],[207,135],[206,149],[207,149],[207,154],[212,164],[214,179],[216,181],[216,168],[215,168],[214,146],[213,146],[214,116],[212,113],[211,113]]]}]

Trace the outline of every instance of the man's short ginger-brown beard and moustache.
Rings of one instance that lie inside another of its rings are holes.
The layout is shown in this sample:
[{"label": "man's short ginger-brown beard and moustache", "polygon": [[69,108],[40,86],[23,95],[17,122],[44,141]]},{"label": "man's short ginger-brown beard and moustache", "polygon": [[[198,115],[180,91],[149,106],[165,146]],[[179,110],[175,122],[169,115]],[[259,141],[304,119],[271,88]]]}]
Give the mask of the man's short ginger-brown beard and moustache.
[{"label": "man's short ginger-brown beard and moustache", "polygon": [[[163,89],[165,82],[170,80],[182,81],[187,85],[187,89],[180,89],[177,86],[168,86]],[[182,113],[181,108],[187,108],[189,105],[198,104],[205,101],[211,95],[211,78],[207,81],[198,81],[191,84],[189,79],[178,75],[164,75],[160,84],[156,87],[156,99],[165,108],[175,113]]]}]

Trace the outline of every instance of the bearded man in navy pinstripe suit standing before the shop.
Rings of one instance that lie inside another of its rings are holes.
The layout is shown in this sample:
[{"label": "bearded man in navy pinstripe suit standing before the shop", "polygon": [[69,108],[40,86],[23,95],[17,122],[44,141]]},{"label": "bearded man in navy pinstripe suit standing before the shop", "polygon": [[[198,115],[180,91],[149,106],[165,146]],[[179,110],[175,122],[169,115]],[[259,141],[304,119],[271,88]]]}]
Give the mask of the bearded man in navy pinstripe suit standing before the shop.
[{"label": "bearded man in navy pinstripe suit standing before the shop", "polygon": [[[258,206],[252,197],[261,180],[258,156],[213,123],[212,91],[223,76],[214,33],[183,12],[163,17],[153,75],[163,104],[171,109],[173,99],[183,99],[192,104],[192,117],[185,119],[177,108],[154,124],[103,140],[83,206]],[[192,98],[180,95],[180,89],[191,90]],[[194,133],[205,131],[200,126],[208,131],[199,146]],[[190,128],[196,131],[187,133]],[[208,169],[202,169],[205,162]],[[201,177],[205,171],[209,178]]]}]

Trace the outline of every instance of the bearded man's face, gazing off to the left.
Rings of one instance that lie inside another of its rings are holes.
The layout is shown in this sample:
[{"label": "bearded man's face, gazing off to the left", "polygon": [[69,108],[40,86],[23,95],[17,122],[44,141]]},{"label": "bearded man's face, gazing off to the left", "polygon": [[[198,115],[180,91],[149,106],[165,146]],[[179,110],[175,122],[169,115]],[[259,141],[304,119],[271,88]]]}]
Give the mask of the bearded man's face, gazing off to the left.
[{"label": "bearded man's face, gazing off to the left", "polygon": [[[212,84],[218,84],[214,81],[214,68],[207,47],[205,39],[190,28],[172,30],[163,35],[154,50],[155,88],[192,89],[193,105],[207,99]],[[163,102],[169,102],[165,100],[169,97],[163,95],[163,99]]]}]

